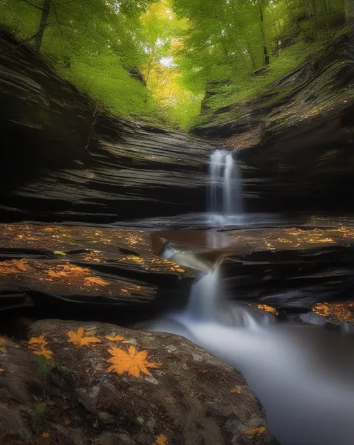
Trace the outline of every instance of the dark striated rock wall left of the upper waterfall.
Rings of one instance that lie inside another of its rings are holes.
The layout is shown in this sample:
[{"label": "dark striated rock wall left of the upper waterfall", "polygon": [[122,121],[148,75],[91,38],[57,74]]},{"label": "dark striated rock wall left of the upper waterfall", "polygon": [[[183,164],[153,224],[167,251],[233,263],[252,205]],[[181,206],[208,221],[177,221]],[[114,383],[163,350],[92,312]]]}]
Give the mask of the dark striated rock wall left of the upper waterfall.
[{"label": "dark striated rock wall left of the upper waterfall", "polygon": [[100,112],[0,34],[3,218],[111,222],[203,210],[212,145]]}]

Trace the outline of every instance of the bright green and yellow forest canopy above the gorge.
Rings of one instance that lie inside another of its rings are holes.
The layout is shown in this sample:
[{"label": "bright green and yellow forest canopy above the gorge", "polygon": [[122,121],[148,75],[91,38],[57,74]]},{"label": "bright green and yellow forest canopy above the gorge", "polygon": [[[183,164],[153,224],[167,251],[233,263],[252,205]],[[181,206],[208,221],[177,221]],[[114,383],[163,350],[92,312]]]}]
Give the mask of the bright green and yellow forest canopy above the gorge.
[{"label": "bright green and yellow forest canopy above the gorge", "polygon": [[348,26],[351,0],[0,0],[0,24],[118,116],[188,129]]}]

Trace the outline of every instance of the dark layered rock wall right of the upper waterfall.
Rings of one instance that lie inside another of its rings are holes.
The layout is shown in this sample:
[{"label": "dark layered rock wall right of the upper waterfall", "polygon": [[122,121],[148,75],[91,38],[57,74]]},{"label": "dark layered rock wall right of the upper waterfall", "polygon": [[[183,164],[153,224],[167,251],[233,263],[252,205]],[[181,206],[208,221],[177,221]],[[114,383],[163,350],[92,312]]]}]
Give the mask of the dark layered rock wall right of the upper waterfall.
[{"label": "dark layered rock wall right of the upper waterfall", "polygon": [[352,47],[349,35],[334,39],[266,93],[194,129],[237,150],[246,210],[353,210]]}]

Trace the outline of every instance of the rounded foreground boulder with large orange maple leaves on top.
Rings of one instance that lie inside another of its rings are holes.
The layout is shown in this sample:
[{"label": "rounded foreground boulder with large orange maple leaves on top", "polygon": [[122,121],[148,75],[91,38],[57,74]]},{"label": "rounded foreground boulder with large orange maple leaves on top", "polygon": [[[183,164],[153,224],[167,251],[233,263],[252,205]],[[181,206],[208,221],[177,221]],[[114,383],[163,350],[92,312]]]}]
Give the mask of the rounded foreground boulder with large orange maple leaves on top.
[{"label": "rounded foreground boulder with large orange maple leaves on top", "polygon": [[1,338],[3,444],[274,444],[241,374],[185,338],[41,320]]}]

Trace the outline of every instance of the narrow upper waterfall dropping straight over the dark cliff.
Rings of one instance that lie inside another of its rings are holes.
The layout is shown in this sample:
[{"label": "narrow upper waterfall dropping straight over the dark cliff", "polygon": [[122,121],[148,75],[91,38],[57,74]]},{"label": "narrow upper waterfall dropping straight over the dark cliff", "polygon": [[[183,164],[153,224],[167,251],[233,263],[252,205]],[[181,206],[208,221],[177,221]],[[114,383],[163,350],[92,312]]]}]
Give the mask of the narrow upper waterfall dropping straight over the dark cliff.
[{"label": "narrow upper waterfall dropping straight over the dark cliff", "polygon": [[239,167],[223,149],[210,157],[208,210],[212,224],[238,224],[242,214]]}]

